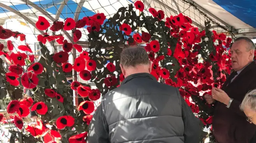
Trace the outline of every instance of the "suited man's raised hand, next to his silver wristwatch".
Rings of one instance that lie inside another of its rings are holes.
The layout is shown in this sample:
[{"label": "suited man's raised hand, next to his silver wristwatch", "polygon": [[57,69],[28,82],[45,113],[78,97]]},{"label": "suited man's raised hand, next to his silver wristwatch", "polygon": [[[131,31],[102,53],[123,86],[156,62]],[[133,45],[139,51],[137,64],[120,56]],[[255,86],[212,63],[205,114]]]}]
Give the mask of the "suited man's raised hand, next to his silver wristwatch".
[{"label": "suited man's raised hand, next to his silver wristwatch", "polygon": [[226,92],[224,92],[219,88],[212,89],[212,98],[226,105],[228,105],[230,100],[230,97],[228,96],[228,94],[226,94]]}]

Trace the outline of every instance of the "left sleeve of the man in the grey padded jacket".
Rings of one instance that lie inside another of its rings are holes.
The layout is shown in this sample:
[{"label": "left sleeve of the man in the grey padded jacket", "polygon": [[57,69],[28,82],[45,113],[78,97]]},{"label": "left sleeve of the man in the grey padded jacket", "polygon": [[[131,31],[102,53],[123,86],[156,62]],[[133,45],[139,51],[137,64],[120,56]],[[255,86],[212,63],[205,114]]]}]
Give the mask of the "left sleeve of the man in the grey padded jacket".
[{"label": "left sleeve of the man in the grey padded jacket", "polygon": [[89,125],[87,143],[109,143],[108,124],[102,110],[102,104],[98,106]]}]

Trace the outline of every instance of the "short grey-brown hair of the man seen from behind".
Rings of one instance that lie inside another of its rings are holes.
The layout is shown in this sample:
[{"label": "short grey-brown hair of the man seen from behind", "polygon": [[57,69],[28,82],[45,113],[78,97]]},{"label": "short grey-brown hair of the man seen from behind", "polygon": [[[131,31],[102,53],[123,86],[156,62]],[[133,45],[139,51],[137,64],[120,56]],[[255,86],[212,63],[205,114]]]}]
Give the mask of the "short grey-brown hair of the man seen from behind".
[{"label": "short grey-brown hair of the man seen from behind", "polygon": [[147,51],[141,46],[124,48],[120,55],[120,64],[124,67],[148,65],[150,63]]}]

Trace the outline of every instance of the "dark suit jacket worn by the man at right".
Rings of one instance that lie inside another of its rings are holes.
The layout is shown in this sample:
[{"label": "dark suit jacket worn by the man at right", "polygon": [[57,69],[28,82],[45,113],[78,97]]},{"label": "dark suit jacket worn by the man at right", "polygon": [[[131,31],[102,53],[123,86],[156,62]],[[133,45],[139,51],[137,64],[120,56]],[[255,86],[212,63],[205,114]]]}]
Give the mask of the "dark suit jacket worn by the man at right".
[{"label": "dark suit jacket worn by the man at right", "polygon": [[234,100],[230,108],[221,102],[216,103],[212,120],[213,135],[217,143],[250,143],[256,126],[246,121],[246,115],[240,111],[239,106],[245,94],[256,88],[256,61],[245,67],[227,86],[228,80],[222,90]]}]

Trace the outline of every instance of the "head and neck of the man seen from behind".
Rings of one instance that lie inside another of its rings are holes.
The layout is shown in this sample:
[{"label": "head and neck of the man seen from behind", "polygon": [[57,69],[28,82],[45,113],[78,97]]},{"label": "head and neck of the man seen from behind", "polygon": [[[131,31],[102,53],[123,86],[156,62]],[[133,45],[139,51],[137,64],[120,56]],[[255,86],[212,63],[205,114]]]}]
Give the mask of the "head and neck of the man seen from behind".
[{"label": "head and neck of the man seen from behind", "polygon": [[120,67],[124,77],[136,73],[151,72],[151,62],[143,47],[124,48],[120,57]]}]

